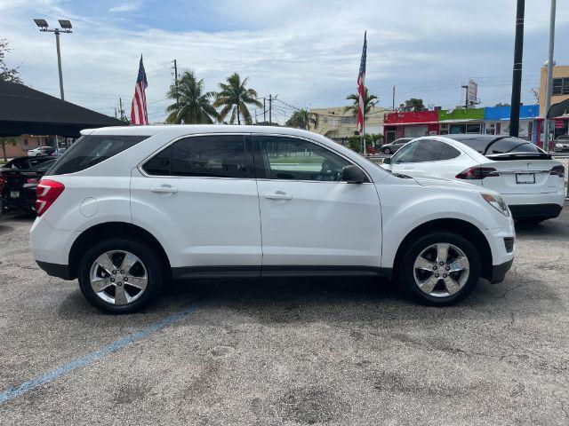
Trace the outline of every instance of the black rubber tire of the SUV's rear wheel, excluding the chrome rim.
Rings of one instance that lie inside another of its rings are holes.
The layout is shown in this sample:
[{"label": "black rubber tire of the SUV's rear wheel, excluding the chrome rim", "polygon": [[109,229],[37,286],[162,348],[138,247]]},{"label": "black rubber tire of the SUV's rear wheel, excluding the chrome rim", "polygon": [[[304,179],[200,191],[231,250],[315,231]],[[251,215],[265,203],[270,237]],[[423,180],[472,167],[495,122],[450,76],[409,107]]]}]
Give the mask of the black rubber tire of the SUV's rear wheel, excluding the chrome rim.
[{"label": "black rubber tire of the SUV's rear wheel, excluding the chrome rim", "polygon": [[[115,305],[102,300],[91,287],[89,274],[95,259],[113,250],[126,250],[134,256],[139,257],[147,272],[147,287],[136,300],[130,304]],[[158,256],[156,249],[146,241],[135,238],[116,238],[101,241],[87,250],[81,259],[78,271],[79,288],[87,301],[102,312],[110,313],[131,313],[138,312],[148,304],[152,303],[158,296],[164,284],[164,264],[161,256]]]}]

